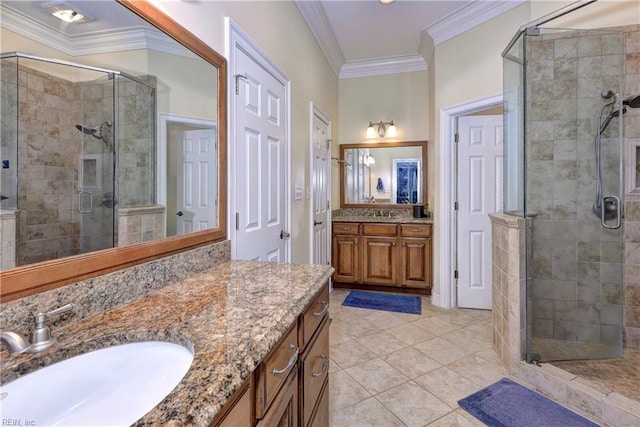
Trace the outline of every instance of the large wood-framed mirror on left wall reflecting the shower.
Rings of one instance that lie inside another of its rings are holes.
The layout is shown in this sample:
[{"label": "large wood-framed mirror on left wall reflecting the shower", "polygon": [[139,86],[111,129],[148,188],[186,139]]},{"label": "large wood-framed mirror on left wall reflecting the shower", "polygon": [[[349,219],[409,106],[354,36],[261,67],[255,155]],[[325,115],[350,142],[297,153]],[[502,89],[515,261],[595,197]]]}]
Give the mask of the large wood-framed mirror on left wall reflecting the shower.
[{"label": "large wood-framed mirror on left wall reflecting the shower", "polygon": [[224,57],[144,0],[0,8],[0,297],[225,240]]}]

